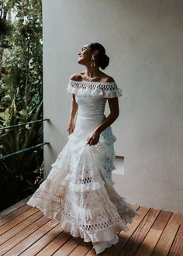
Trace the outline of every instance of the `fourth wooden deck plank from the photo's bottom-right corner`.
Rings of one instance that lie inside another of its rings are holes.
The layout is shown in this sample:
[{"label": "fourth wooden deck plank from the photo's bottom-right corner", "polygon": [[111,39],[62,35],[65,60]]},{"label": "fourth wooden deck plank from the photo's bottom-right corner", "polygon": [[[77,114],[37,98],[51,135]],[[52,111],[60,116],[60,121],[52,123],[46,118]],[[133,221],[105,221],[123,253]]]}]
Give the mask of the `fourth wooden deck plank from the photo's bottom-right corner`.
[{"label": "fourth wooden deck plank from the photo's bottom-right corner", "polygon": [[140,247],[143,239],[146,237],[150,227],[153,225],[154,221],[157,219],[158,214],[161,212],[160,209],[150,209],[147,215],[143,218],[139,227],[135,230],[133,235],[129,238],[120,256],[123,255],[135,255],[136,251]]}]

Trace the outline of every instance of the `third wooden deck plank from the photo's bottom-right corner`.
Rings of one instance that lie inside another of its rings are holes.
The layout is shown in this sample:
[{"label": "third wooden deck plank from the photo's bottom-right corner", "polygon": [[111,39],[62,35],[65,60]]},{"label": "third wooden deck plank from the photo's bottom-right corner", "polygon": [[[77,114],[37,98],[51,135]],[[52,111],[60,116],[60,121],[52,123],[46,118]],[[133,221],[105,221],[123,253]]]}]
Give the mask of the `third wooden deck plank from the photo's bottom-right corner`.
[{"label": "third wooden deck plank from the photo's bottom-right corner", "polygon": [[148,232],[147,236],[143,240],[143,244],[141,244],[139,250],[136,252],[136,256],[151,255],[170,217],[171,217],[171,212],[161,211],[159,216],[157,216],[157,220],[155,221],[153,226],[150,228],[150,231]]}]

